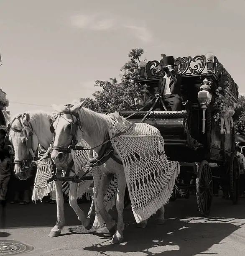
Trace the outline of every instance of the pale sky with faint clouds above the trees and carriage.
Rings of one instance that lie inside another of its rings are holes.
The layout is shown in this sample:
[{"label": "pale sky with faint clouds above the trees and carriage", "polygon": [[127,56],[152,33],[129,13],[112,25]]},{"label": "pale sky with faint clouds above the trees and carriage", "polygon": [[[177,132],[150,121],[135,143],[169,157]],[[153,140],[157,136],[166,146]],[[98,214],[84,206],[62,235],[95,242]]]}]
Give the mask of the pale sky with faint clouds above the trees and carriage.
[{"label": "pale sky with faint clouds above the trees and carriage", "polygon": [[94,81],[118,78],[134,48],[148,61],[212,52],[245,94],[244,10],[245,0],[0,0],[7,110],[92,97]]}]

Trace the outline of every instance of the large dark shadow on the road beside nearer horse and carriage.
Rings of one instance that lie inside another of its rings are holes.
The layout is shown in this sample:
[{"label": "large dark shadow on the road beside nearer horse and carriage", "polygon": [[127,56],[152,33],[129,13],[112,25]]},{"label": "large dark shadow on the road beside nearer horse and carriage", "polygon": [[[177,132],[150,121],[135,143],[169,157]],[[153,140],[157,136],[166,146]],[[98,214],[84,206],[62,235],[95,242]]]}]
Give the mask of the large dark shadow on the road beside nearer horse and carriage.
[{"label": "large dark shadow on the road beside nearer horse and carriage", "polygon": [[231,223],[186,223],[181,220],[168,220],[163,226],[151,224],[144,230],[130,225],[125,229],[125,243],[94,244],[84,250],[104,255],[116,251],[159,256],[194,256],[220,243],[238,228],[240,227]]}]

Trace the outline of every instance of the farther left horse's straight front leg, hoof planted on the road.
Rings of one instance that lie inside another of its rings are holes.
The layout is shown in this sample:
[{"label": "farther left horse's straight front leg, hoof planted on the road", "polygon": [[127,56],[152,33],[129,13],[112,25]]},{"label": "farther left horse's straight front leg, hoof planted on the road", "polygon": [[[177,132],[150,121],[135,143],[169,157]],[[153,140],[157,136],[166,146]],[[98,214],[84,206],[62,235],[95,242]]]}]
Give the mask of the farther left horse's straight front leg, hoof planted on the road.
[{"label": "farther left horse's straight front leg, hoof planted on the road", "polygon": [[54,182],[55,192],[56,192],[56,204],[57,204],[57,221],[54,228],[51,229],[49,237],[59,236],[61,229],[65,224],[65,215],[64,215],[64,197],[62,192],[62,182],[56,180]]}]

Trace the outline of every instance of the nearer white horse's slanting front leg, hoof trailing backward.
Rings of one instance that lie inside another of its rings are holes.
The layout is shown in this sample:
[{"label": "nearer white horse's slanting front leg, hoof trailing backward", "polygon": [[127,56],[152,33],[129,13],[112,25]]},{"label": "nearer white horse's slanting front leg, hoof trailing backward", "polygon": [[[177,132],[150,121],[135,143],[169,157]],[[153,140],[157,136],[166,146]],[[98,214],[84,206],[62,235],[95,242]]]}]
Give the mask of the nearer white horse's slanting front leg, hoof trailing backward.
[{"label": "nearer white horse's slanting front leg, hoof trailing backward", "polygon": [[96,200],[97,203],[97,210],[99,211],[98,213],[100,213],[101,217],[106,223],[107,229],[113,235],[115,233],[116,223],[112,219],[111,215],[107,212],[107,210],[105,210],[104,205],[104,197],[109,187],[110,181],[111,177],[109,175],[102,174],[98,187],[94,187],[94,200]]}]

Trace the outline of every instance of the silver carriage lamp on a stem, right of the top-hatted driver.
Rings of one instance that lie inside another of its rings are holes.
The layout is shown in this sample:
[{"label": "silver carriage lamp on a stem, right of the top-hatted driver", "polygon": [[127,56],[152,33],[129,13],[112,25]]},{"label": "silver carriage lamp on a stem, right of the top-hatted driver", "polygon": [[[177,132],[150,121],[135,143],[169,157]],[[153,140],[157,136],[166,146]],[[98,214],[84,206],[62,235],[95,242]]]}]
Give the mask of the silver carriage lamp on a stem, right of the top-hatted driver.
[{"label": "silver carriage lamp on a stem, right of the top-hatted driver", "polygon": [[202,109],[202,133],[205,133],[205,121],[206,121],[206,109],[209,103],[212,100],[211,90],[211,82],[205,78],[200,86],[200,91],[198,92],[197,98],[200,104],[200,108]]}]

